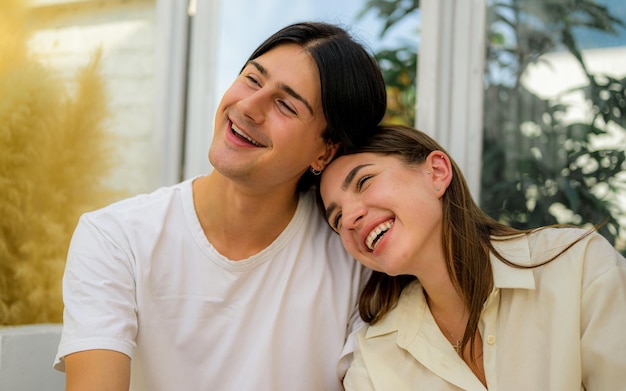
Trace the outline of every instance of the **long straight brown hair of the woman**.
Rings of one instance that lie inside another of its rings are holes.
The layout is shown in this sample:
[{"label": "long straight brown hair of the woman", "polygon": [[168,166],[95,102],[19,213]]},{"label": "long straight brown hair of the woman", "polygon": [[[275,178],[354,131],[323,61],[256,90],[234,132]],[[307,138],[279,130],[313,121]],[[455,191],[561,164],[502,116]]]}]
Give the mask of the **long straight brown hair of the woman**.
[{"label": "long straight brown hair of the woman", "polygon": [[[367,143],[348,151],[347,154],[369,152],[393,155],[409,165],[423,163],[433,151],[442,151],[447,154],[445,149],[430,136],[414,128],[388,125],[380,126],[379,130]],[[518,230],[488,216],[474,202],[467,182],[452,158],[450,158],[450,163],[453,178],[442,196],[442,248],[448,274],[469,310],[469,320],[460,351],[462,352],[465,346],[471,343],[470,355],[473,357],[473,342],[480,313],[493,287],[489,254],[493,253],[502,262],[513,267],[529,267],[506,260],[496,251],[491,242],[510,240],[512,237],[525,235],[536,229]],[[554,257],[530,267],[551,262],[591,232],[593,230],[585,233]],[[414,276],[389,276],[374,271],[359,298],[359,311],[363,320],[370,324],[379,321],[395,307],[400,293],[413,280],[415,280]]]}]

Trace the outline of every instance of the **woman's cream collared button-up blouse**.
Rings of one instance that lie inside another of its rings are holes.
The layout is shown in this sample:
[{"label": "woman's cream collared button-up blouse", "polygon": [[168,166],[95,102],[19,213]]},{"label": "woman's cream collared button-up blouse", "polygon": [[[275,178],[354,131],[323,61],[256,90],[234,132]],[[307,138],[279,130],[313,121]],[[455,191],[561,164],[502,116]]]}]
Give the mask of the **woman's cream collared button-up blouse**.
[{"label": "woman's cream collared button-up blouse", "polygon": [[[544,229],[494,241],[532,265],[584,231]],[[489,390],[626,390],[626,260],[592,234],[551,263],[517,269],[494,256],[479,329]],[[435,323],[419,282],[361,330],[346,390],[485,390]]]}]

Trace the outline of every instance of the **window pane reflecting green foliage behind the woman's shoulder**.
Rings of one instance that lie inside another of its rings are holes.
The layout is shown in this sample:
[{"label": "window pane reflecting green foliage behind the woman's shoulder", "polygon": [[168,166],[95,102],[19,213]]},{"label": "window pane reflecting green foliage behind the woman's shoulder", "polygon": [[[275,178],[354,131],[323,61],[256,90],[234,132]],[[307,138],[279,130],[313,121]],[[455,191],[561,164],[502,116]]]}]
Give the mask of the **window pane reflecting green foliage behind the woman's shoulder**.
[{"label": "window pane reflecting green foliage behind the woman's shoulder", "polygon": [[492,216],[606,221],[624,252],[625,23],[622,0],[488,2],[481,206]]}]

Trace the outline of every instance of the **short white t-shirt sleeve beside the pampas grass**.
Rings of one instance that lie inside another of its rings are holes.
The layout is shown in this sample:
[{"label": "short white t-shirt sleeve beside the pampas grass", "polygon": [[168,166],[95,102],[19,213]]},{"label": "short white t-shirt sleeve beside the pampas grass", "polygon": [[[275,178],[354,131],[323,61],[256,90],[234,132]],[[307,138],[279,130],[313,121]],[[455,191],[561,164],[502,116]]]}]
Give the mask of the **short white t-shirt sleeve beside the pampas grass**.
[{"label": "short white t-shirt sleeve beside the pampas grass", "polygon": [[54,368],[71,353],[115,350],[132,357],[137,334],[134,257],[123,223],[106,213],[81,216],[63,275],[63,331]]}]

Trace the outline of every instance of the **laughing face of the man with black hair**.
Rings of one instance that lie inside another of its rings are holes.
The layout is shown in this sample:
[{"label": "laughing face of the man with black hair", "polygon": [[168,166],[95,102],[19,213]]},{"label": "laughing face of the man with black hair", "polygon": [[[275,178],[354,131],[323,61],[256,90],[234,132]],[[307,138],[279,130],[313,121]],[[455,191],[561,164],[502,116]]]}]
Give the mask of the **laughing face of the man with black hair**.
[{"label": "laughing face of the man with black hair", "polygon": [[295,188],[327,154],[325,127],[315,62],[298,45],[280,45],[250,61],[224,93],[209,160],[238,183]]}]

